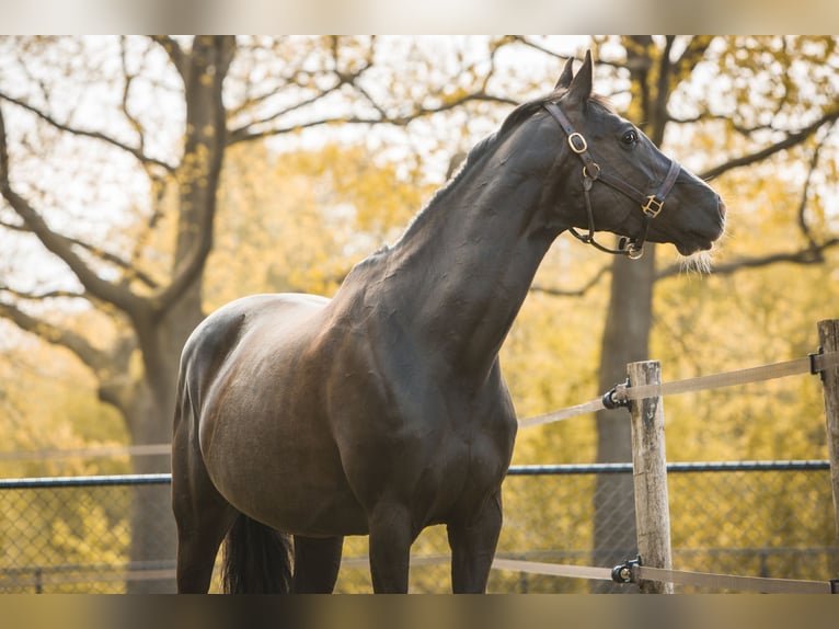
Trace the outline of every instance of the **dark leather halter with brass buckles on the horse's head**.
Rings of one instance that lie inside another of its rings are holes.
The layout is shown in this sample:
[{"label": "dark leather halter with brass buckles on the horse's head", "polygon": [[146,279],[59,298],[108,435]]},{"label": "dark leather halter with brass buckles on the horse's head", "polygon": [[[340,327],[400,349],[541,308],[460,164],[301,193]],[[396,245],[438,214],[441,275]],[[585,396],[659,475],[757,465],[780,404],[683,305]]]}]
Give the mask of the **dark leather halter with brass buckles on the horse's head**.
[{"label": "dark leather halter with brass buckles on the horse's head", "polygon": [[[586,197],[586,213],[588,214],[588,233],[579,233],[573,227],[568,228],[568,230],[582,242],[590,244],[600,251],[614,253],[617,255],[627,255],[630,260],[637,260],[644,254],[644,242],[646,241],[646,232],[650,229],[650,221],[662,211],[664,199],[676,183],[676,178],[679,176],[681,167],[674,160],[670,160],[670,168],[667,171],[667,176],[664,178],[664,182],[658,186],[658,190],[653,194],[644,194],[622,179],[600,169],[600,164],[598,164],[591,157],[591,153],[588,152],[588,142],[586,142],[586,138],[574,130],[571,121],[568,121],[565,114],[562,113],[562,110],[556,103],[545,103],[544,108],[556,119],[560,127],[562,127],[562,130],[568,136],[568,146],[571,147],[572,152],[579,157],[583,162],[583,191]],[[609,249],[595,240],[595,215],[591,210],[589,192],[596,181],[602,181],[605,184],[622,192],[641,204],[641,213],[644,215],[644,227],[641,231],[641,236],[639,238],[621,237],[618,241],[618,249]]]}]

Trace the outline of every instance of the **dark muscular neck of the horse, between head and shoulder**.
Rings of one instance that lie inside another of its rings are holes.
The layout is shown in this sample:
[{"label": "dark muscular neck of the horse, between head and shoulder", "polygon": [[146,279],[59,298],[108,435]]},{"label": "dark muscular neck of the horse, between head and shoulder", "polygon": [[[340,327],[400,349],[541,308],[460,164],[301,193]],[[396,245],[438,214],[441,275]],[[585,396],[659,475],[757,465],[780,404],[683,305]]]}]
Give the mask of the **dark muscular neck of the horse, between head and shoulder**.
[{"label": "dark muscular neck of the horse, between head and shoulder", "polygon": [[435,198],[387,256],[389,307],[458,373],[492,366],[562,229],[540,218],[538,175],[514,180],[494,157]]}]

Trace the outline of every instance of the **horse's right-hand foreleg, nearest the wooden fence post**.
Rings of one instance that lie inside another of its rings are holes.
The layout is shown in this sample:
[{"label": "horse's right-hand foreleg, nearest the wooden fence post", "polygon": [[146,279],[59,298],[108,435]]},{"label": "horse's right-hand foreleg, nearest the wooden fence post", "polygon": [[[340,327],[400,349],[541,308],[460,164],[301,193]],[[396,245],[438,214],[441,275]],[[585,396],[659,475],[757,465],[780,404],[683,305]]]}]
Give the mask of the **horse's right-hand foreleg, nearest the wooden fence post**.
[{"label": "horse's right-hand foreleg, nearest the wooden fence post", "polygon": [[452,592],[486,592],[501,527],[501,489],[467,522],[448,525]]}]

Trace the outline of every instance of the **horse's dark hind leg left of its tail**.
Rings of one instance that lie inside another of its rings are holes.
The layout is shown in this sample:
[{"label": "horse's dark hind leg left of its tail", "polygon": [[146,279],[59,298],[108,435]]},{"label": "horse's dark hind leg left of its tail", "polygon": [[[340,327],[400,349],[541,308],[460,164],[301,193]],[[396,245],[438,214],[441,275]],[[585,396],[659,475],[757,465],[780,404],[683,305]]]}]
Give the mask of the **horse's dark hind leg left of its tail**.
[{"label": "horse's dark hind leg left of its tail", "polygon": [[177,591],[206,593],[219,546],[238,512],[210,481],[197,444],[176,425],[172,442],[172,510],[177,524]]}]

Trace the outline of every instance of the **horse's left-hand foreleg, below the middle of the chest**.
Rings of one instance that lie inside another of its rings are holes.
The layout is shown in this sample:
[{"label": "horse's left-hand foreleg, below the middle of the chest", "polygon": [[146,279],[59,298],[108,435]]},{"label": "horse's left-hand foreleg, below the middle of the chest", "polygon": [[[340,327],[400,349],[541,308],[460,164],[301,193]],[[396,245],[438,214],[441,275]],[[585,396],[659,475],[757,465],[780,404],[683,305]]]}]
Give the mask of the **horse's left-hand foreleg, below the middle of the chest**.
[{"label": "horse's left-hand foreleg, below the middle of the chest", "polygon": [[407,593],[411,545],[414,534],[411,513],[400,504],[380,504],[369,518],[370,575],[378,593]]}]

